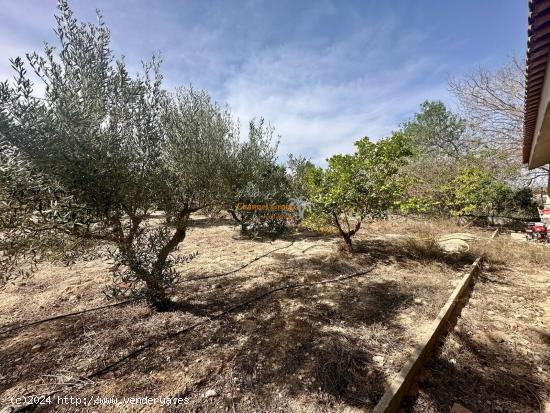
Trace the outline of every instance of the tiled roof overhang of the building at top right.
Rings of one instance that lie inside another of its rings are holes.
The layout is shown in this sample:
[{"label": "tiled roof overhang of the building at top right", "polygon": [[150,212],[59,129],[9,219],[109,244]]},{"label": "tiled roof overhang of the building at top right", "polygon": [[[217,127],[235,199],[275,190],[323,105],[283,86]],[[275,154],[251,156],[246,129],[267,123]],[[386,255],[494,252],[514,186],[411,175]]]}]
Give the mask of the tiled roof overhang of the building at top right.
[{"label": "tiled roof overhang of the building at top right", "polygon": [[523,162],[550,163],[550,0],[529,0]]}]

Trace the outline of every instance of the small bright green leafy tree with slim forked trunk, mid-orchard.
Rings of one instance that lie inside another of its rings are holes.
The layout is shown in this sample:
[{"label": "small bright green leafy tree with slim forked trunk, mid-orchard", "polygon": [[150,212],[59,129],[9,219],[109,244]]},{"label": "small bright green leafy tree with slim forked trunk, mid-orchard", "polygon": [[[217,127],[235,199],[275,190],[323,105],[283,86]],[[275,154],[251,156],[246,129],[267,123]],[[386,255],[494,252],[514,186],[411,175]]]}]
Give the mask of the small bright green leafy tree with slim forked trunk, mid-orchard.
[{"label": "small bright green leafy tree with slim forked trunk, mid-orchard", "polygon": [[355,146],[353,155],[334,155],[326,169],[312,168],[307,177],[313,213],[335,226],[350,252],[363,221],[384,216],[398,203],[398,171],[410,155],[402,134],[377,142],[365,137]]}]

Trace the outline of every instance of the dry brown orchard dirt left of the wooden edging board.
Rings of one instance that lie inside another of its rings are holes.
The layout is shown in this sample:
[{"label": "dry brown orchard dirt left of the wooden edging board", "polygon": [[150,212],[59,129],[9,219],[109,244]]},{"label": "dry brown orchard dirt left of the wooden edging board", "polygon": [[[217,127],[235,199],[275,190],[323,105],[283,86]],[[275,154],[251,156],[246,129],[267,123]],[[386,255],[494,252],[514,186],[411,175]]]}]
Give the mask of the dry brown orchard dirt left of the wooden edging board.
[{"label": "dry brown orchard dirt left of the wooden edging board", "polygon": [[[490,234],[466,230],[479,245]],[[44,263],[0,291],[0,410],[57,392],[38,410],[368,411],[473,261],[475,248],[448,255],[429,242],[456,231],[465,229],[378,222],[362,230],[350,256],[333,236],[296,231],[252,241],[230,221],[196,217],[179,253],[199,255],[181,267],[177,310],[133,302],[6,331],[109,304],[101,293],[108,260]],[[499,279],[495,291],[505,286],[496,274],[487,274]],[[532,311],[537,294],[524,294]],[[430,397],[417,405],[440,411]],[[174,398],[177,406],[161,404]]]}]

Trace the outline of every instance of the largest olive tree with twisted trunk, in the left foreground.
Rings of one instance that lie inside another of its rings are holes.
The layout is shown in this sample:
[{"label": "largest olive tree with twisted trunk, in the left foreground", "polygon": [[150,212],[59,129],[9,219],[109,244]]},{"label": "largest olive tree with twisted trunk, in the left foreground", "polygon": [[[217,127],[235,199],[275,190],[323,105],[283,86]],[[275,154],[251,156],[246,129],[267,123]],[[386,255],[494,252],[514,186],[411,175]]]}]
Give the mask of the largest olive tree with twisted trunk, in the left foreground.
[{"label": "largest olive tree with twisted trunk, in the left foreground", "polygon": [[101,18],[79,23],[60,1],[56,20],[58,48],[27,55],[44,95],[19,58],[1,84],[2,139],[68,200],[50,229],[115,243],[115,275],[166,309],[190,214],[228,202],[238,129],[207,93],[164,91],[156,58],[130,76]]}]

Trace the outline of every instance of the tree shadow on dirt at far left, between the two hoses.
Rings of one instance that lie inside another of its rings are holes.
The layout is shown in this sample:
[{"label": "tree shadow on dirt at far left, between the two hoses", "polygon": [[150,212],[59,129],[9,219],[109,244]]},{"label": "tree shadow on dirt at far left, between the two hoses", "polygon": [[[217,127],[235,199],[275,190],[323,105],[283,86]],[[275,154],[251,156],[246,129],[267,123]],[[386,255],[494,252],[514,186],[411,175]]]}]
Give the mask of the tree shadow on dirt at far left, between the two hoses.
[{"label": "tree shadow on dirt at far left, between the two hoses", "polygon": [[[116,316],[110,316],[113,311]],[[22,381],[83,375],[104,362],[98,352],[117,354],[132,344],[144,311],[139,304],[109,308],[0,335],[0,393]]]}]

